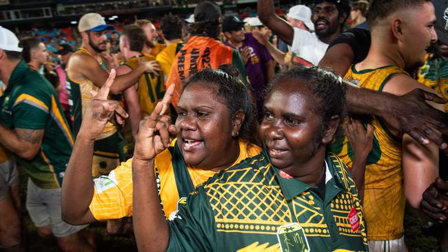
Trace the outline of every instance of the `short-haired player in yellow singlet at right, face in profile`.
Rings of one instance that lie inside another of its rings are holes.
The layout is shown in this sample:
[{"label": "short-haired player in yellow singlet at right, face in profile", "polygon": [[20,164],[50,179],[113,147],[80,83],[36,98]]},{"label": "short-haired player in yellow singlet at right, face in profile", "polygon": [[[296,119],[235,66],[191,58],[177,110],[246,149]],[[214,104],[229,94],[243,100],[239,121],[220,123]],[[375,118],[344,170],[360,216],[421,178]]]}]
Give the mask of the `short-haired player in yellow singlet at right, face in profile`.
[{"label": "short-haired player in yellow singlet at right, face in profile", "polygon": [[[431,1],[374,0],[367,20],[371,31],[369,53],[349,68],[345,78],[360,87],[396,95],[418,88],[429,91],[404,69],[421,65],[425,49],[437,40]],[[404,251],[405,203],[418,209],[423,191],[438,176],[438,146],[418,143],[376,116],[364,123],[374,126],[363,204],[369,249],[383,251],[387,246],[390,251]],[[337,139],[332,151],[348,167],[352,165],[354,156],[347,138]]]}]

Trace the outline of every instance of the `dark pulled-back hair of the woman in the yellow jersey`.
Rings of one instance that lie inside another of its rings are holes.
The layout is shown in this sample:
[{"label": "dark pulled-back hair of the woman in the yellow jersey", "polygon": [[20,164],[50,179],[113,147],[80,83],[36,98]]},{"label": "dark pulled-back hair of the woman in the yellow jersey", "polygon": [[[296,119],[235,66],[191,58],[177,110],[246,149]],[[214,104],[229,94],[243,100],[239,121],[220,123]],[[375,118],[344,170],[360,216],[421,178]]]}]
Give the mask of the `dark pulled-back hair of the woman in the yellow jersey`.
[{"label": "dark pulled-back hair of the woman in the yellow jersey", "polygon": [[207,68],[194,74],[185,85],[184,90],[188,85],[198,82],[214,85],[217,98],[221,98],[229,109],[229,120],[234,118],[236,112],[244,112],[245,118],[238,138],[250,140],[251,143],[258,143],[256,140],[257,125],[254,101],[250,90],[241,81],[238,70],[232,65],[221,65],[217,70]]}]

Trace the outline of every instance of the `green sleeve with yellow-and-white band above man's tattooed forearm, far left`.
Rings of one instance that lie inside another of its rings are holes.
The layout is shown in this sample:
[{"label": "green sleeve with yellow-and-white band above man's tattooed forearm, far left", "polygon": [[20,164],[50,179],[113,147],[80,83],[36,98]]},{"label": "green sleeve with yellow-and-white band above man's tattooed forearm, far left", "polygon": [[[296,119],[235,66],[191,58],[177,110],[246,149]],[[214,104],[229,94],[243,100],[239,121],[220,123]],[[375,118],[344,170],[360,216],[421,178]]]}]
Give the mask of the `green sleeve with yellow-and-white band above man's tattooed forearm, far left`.
[{"label": "green sleeve with yellow-and-white band above man's tattooed forearm, far left", "polygon": [[14,127],[20,129],[45,129],[51,105],[38,94],[19,95],[12,107]]}]

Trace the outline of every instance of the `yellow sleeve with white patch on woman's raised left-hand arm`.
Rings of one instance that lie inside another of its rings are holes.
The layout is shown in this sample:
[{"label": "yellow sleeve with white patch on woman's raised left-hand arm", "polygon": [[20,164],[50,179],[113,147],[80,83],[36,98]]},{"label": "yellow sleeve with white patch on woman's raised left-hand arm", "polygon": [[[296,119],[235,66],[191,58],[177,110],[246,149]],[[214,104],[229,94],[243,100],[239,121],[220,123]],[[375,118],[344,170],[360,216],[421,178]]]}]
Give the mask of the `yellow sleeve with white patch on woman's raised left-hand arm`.
[{"label": "yellow sleeve with white patch on woman's raised left-hand arm", "polygon": [[94,180],[90,211],[96,220],[132,216],[132,158],[122,162],[108,176]]}]

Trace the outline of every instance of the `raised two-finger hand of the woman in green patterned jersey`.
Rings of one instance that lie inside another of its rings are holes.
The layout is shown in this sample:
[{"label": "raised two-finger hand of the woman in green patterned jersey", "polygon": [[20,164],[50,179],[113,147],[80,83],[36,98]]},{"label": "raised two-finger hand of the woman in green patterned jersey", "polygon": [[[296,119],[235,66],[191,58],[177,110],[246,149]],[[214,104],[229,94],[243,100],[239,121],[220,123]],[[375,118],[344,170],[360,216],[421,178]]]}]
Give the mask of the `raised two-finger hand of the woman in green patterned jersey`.
[{"label": "raised two-finger hand of the woman in green patterned jersey", "polygon": [[170,125],[170,116],[166,116],[165,112],[170,107],[173,93],[174,85],[170,85],[151,115],[141,120],[134,147],[134,160],[150,161],[170,145],[170,132],[175,133],[176,127]]}]

